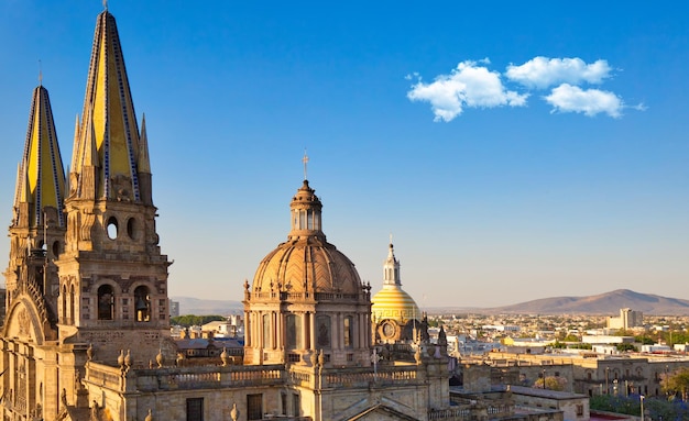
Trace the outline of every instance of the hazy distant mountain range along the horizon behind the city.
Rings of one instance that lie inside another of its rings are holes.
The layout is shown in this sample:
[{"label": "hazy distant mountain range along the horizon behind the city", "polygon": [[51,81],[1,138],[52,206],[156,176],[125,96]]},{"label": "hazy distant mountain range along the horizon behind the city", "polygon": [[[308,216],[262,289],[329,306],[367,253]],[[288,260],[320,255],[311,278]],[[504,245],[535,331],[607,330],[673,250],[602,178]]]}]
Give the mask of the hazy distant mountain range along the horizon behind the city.
[{"label": "hazy distant mountain range along the horizon behind the city", "polygon": [[[243,312],[240,301],[203,300],[190,297],[172,297],[179,302],[179,314],[238,314]],[[655,315],[689,315],[689,300],[639,293],[628,289],[588,297],[554,297],[494,308],[428,308],[434,312],[512,313],[512,314],[606,314],[619,315],[620,309],[630,308]]]}]

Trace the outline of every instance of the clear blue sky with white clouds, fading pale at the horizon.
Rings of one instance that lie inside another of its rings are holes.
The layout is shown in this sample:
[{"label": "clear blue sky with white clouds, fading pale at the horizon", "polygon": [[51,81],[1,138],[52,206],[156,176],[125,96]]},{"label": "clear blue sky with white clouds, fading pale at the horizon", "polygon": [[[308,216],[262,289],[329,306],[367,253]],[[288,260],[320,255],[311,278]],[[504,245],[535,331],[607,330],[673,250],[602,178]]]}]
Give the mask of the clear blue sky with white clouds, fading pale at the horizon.
[{"label": "clear blue sky with white clouds, fading pale at the horizon", "polygon": [[[682,2],[108,7],[146,115],[171,296],[242,298],[286,240],[307,148],[328,241],[374,291],[392,233],[424,308],[689,299]],[[101,10],[0,0],[7,225],[39,71],[67,165]]]}]

